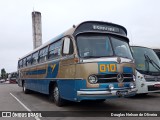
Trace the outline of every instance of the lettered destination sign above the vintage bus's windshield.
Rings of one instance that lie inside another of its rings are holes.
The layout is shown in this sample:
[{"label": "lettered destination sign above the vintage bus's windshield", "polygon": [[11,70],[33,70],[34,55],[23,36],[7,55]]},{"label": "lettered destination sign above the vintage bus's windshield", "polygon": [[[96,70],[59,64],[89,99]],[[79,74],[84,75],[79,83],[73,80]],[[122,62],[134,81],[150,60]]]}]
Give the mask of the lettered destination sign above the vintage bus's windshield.
[{"label": "lettered destination sign above the vintage bus's windshield", "polygon": [[119,28],[112,27],[112,26],[93,25],[93,29],[119,33]]}]

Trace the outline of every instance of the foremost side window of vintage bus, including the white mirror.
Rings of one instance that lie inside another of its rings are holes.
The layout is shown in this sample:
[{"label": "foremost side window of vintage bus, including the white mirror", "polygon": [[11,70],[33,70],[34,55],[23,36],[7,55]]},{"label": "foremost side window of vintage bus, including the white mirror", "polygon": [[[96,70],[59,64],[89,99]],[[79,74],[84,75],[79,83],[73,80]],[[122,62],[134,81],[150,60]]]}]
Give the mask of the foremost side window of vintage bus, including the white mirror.
[{"label": "foremost side window of vintage bus, including the white mirror", "polygon": [[70,38],[66,37],[63,41],[62,55],[71,55],[73,54],[73,42]]}]

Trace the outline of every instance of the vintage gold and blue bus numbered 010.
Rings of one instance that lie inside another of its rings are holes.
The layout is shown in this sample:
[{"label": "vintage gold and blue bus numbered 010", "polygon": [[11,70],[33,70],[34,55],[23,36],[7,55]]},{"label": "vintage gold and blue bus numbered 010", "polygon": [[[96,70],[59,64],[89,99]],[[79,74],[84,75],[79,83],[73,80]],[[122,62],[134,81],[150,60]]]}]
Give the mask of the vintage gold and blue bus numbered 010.
[{"label": "vintage gold and blue bus numbered 010", "polygon": [[108,22],[73,25],[20,58],[18,74],[24,93],[48,94],[57,106],[66,100],[105,101],[137,91],[127,30]]}]

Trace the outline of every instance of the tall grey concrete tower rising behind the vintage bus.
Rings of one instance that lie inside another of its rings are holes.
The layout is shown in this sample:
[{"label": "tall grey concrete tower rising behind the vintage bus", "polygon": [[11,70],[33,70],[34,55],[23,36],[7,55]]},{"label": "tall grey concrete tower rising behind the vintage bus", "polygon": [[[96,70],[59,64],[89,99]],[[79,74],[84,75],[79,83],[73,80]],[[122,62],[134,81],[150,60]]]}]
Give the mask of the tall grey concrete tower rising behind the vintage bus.
[{"label": "tall grey concrete tower rising behind the vintage bus", "polygon": [[32,29],[33,29],[33,49],[42,45],[42,24],[41,13],[32,12]]}]

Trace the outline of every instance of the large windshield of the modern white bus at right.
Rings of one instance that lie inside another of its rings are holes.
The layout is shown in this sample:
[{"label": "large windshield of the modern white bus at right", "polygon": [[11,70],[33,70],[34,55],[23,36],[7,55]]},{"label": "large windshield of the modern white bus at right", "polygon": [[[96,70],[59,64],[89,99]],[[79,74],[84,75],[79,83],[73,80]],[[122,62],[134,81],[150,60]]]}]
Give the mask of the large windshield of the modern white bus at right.
[{"label": "large windshield of the modern white bus at right", "polygon": [[160,72],[160,61],[156,53],[145,47],[132,47],[136,69],[142,72]]}]

